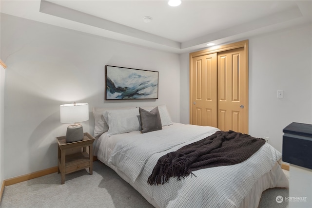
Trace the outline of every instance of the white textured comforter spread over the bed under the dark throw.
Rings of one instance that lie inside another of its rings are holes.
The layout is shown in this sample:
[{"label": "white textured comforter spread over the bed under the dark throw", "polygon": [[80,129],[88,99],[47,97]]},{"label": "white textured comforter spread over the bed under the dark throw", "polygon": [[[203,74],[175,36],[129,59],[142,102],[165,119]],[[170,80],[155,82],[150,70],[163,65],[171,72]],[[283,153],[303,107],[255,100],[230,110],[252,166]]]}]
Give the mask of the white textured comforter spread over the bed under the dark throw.
[{"label": "white textured comforter spread over the bed under the dark throw", "polygon": [[171,178],[164,185],[147,184],[159,157],[216,131],[218,129],[213,127],[175,123],[143,134],[130,132],[110,137],[103,134],[97,141],[95,155],[126,174],[158,207],[238,207],[254,183],[281,158],[281,153],[267,143],[240,164],[196,170],[193,171],[196,177],[189,176],[181,181]]}]

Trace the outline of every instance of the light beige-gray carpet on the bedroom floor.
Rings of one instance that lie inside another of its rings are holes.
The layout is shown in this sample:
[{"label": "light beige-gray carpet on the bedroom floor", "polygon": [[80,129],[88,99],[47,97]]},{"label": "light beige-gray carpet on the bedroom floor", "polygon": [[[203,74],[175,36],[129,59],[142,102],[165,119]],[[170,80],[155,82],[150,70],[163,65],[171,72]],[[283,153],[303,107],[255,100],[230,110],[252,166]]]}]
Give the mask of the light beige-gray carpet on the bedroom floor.
[{"label": "light beige-gray carpet on the bedroom floor", "polygon": [[[285,171],[286,174],[288,171]],[[286,208],[276,196],[288,196],[288,189],[263,192],[259,208]],[[5,187],[1,208],[153,208],[113,170],[94,162],[93,175],[80,170],[66,175],[60,184],[58,173]]]}]

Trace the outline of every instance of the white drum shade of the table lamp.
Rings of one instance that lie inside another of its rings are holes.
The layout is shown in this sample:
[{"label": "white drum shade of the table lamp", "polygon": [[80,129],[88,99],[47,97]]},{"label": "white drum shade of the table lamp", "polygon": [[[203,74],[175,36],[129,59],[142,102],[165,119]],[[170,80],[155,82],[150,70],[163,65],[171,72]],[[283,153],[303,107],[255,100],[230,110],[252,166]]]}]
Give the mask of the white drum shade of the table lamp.
[{"label": "white drum shade of the table lamp", "polygon": [[72,103],[59,106],[61,123],[78,123],[89,120],[88,103]]}]

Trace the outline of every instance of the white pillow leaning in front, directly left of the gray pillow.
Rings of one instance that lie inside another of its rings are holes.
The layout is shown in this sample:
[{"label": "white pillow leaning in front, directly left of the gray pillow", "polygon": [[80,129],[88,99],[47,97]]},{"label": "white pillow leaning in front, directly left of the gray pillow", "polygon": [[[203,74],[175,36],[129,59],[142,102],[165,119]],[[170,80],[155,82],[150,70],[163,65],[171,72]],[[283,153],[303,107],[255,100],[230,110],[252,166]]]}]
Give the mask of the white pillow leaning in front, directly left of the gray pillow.
[{"label": "white pillow leaning in front, directly left of the gray pillow", "polygon": [[108,124],[108,135],[140,131],[140,113],[138,108],[108,110],[103,113]]}]

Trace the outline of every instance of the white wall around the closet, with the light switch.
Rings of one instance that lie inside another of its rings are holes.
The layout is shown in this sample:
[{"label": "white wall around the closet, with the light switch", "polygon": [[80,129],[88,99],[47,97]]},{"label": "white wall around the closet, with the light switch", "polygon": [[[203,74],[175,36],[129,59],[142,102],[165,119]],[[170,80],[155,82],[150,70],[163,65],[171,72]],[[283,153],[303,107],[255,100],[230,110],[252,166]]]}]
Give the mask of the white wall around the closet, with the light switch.
[{"label": "white wall around the closet, with the light switch", "polygon": [[[249,134],[282,151],[283,129],[312,123],[311,24],[249,39]],[[189,123],[189,53],[180,55],[180,122]],[[185,85],[184,85],[185,83]],[[278,99],[277,90],[284,91]],[[183,111],[182,111],[183,110]]]}]

